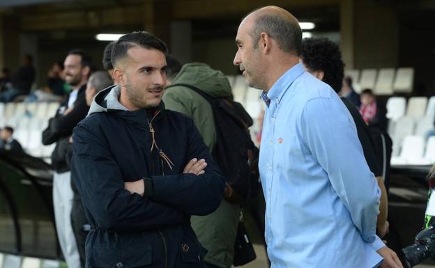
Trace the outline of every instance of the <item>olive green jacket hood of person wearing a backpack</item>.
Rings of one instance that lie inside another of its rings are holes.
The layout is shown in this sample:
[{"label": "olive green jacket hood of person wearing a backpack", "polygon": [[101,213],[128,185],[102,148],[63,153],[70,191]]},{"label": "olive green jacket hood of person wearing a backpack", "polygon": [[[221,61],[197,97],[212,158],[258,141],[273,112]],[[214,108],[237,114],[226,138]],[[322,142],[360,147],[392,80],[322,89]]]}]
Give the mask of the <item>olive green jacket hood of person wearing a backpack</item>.
[{"label": "olive green jacket hood of person wearing a backpack", "polygon": [[183,65],[171,86],[177,84],[190,84],[212,97],[230,97],[231,86],[225,75],[213,70],[205,63],[187,63]]}]

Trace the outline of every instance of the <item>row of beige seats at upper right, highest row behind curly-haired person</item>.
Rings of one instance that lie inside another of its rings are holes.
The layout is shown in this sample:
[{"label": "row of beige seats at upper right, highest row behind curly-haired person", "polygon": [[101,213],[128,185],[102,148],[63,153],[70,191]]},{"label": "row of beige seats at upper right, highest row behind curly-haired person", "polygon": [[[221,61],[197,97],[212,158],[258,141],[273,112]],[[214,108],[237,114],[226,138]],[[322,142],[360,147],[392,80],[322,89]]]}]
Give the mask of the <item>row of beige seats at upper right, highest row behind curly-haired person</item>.
[{"label": "row of beige seats at upper right, highest row behind curly-haired person", "polygon": [[352,77],[353,88],[357,93],[365,88],[371,88],[376,95],[411,93],[413,90],[413,68],[349,69],[344,73]]}]

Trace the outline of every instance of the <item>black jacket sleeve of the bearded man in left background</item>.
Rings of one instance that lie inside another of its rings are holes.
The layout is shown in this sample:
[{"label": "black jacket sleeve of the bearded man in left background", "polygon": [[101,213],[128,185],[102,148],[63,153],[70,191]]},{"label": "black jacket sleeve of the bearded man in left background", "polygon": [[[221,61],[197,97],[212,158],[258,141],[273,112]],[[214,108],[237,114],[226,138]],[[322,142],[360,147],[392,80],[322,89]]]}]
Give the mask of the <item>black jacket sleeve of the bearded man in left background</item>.
[{"label": "black jacket sleeve of the bearded man in left background", "polygon": [[49,120],[47,129],[43,132],[43,144],[54,143],[62,136],[68,136],[73,132],[73,128],[86,117],[89,107],[86,105],[84,93],[77,97],[74,108],[66,116],[56,116]]}]

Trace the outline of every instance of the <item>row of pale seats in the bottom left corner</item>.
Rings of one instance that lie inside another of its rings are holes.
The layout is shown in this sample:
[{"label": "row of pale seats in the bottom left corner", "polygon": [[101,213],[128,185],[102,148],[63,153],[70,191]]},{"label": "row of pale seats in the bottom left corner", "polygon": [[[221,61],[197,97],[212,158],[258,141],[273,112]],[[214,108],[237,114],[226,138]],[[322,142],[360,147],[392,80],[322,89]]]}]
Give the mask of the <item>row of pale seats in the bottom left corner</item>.
[{"label": "row of pale seats in the bottom left corner", "polygon": [[22,257],[0,253],[0,268],[59,268],[58,260]]}]

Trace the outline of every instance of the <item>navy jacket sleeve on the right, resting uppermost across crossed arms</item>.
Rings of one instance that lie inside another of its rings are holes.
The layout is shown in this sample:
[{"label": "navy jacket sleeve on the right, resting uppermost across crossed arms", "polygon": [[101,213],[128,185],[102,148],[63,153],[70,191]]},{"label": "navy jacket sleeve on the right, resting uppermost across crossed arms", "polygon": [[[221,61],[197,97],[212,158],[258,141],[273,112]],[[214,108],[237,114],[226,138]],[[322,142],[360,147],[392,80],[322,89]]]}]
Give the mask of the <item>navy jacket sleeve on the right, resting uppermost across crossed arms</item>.
[{"label": "navy jacket sleeve on the right, resting uppermost across crossed arms", "polygon": [[185,165],[193,158],[206,159],[205,173],[153,176],[152,200],[178,208],[192,215],[206,215],[215,211],[222,201],[225,182],[202,141],[192,120],[188,120],[188,152]]}]

